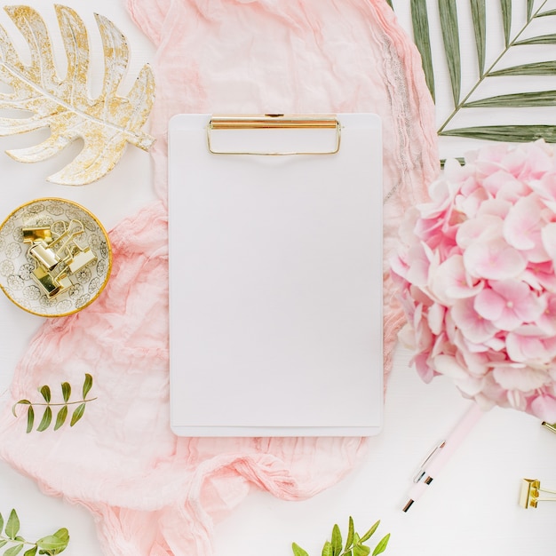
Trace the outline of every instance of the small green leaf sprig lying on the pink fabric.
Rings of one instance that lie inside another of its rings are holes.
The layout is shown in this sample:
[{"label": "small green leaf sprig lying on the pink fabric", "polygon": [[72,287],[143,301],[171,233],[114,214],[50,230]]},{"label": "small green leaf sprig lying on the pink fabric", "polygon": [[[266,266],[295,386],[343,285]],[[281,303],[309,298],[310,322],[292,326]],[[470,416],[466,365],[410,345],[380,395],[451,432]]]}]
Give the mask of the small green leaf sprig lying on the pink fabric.
[{"label": "small green leaf sprig lying on the pink fabric", "polygon": [[58,409],[58,413],[56,415],[56,421],[54,423],[54,430],[57,431],[61,425],[64,425],[68,418],[69,413],[69,406],[76,405],[77,407],[74,409],[71,419],[69,422],[69,426],[75,425],[81,417],[83,417],[83,413],[85,412],[85,404],[89,401],[96,400],[97,398],[87,398],[87,394],[91,391],[92,387],[92,377],[90,374],[85,373],[85,379],[83,382],[82,388],[82,399],[77,401],[69,401],[71,397],[71,385],[68,382],[63,382],[61,384],[61,391],[62,391],[62,399],[63,401],[60,403],[53,403],[52,402],[52,391],[50,386],[44,385],[39,388],[39,392],[43,395],[44,402],[32,402],[29,400],[20,400],[16,401],[12,407],[12,413],[15,417],[17,416],[16,409],[19,405],[27,407],[27,432],[30,433],[33,430],[33,426],[35,424],[35,409],[37,407],[44,407],[43,417],[39,425],[36,427],[38,432],[45,431],[52,423],[52,408],[60,408]]}]

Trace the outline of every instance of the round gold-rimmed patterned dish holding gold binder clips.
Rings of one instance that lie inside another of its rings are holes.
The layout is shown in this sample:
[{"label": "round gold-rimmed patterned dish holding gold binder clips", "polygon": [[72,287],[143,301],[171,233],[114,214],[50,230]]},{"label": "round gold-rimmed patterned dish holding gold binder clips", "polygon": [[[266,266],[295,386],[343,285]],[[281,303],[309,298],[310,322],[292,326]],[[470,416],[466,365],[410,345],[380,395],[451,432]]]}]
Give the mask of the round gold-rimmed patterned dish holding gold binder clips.
[{"label": "round gold-rimmed patterned dish holding gold binder clips", "polygon": [[28,313],[80,311],[99,297],[111,268],[106,230],[73,201],[36,199],[0,226],[0,288]]}]

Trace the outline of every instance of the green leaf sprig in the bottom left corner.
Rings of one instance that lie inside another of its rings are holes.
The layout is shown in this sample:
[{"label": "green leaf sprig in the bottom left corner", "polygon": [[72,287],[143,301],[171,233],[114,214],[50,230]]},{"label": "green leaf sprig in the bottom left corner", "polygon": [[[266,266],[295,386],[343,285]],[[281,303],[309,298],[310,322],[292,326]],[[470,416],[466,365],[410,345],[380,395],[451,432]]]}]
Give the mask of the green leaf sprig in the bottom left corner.
[{"label": "green leaf sprig in the bottom left corner", "polygon": [[26,548],[26,546],[29,548],[23,552],[23,556],[35,556],[37,552],[39,554],[54,556],[54,554],[64,552],[69,543],[69,533],[67,528],[61,528],[52,535],[43,536],[35,543],[26,541],[19,535],[19,532],[20,518],[18,517],[17,512],[15,510],[10,512],[10,516],[5,523],[5,528],[4,518],[0,513],[0,548],[6,547],[4,556],[16,556],[16,554],[19,554],[24,548]]}]

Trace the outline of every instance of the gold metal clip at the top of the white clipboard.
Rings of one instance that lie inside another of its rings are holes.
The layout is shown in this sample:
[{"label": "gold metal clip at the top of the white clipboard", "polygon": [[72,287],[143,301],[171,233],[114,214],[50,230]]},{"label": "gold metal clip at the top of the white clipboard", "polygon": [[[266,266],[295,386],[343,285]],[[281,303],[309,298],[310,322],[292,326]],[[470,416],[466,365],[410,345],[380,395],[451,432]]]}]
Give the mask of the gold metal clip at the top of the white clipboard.
[{"label": "gold metal clip at the top of the white clipboard", "polygon": [[[333,130],[333,147],[324,150],[258,151],[221,150],[213,147],[213,131],[234,130]],[[213,115],[207,126],[207,145],[212,155],[336,155],[340,150],[341,125],[335,115]]]}]

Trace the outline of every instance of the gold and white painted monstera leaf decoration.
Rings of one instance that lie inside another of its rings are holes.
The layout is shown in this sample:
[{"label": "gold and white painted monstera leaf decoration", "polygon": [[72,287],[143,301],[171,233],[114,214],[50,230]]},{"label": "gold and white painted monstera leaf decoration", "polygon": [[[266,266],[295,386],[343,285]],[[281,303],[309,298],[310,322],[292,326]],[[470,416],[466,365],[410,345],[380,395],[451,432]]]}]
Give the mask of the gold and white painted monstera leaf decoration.
[{"label": "gold and white painted monstera leaf decoration", "polygon": [[[43,18],[28,6],[6,6],[28,43],[30,63],[24,64],[0,26],[0,81],[12,91],[0,92],[0,136],[50,128],[51,135],[28,148],[6,151],[24,163],[44,161],[75,139],[83,149],[62,170],[48,178],[53,183],[81,186],[102,178],[120,160],[128,143],[148,150],[154,139],[141,131],[155,97],[155,79],[145,65],[127,97],[117,94],[128,66],[125,36],[112,21],[96,14],[104,50],[104,79],[96,99],[87,86],[90,49],[83,20],[67,6],[56,5],[68,66],[57,73],[52,43]],[[30,113],[30,115],[29,115]],[[9,117],[8,117],[9,116]]]}]

